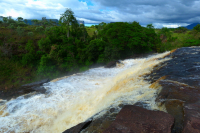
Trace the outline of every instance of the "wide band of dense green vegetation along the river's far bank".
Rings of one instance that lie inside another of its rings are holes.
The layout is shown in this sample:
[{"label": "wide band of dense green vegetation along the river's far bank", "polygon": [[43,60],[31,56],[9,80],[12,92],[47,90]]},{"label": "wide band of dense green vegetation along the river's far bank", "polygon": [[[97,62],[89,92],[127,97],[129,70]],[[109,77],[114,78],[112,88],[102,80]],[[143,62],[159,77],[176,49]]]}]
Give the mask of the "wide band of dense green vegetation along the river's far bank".
[{"label": "wide band of dense green vegetation along the river's far bank", "polygon": [[200,45],[200,25],[192,31],[182,27],[155,29],[152,24],[142,27],[135,21],[85,27],[77,23],[70,9],[61,14],[60,26],[38,20],[30,26],[22,20],[0,21],[1,90],[134,54]]}]

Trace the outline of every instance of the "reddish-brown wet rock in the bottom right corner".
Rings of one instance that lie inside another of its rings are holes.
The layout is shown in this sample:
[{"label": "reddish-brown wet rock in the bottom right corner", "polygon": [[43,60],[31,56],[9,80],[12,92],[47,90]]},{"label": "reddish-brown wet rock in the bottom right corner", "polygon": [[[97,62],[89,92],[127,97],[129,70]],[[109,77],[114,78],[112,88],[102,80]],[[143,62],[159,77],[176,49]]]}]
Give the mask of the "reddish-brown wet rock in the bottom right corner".
[{"label": "reddish-brown wet rock in the bottom right corner", "polygon": [[184,112],[183,133],[200,133],[200,103],[185,105]]}]

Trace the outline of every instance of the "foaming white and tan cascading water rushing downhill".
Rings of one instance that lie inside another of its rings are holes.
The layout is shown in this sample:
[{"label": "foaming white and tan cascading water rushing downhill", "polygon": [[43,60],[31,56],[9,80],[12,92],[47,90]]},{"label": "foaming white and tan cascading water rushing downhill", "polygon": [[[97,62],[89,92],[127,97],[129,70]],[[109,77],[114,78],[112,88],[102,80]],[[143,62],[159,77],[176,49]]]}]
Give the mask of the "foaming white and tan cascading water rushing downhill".
[{"label": "foaming white and tan cascading water rushing downhill", "polygon": [[169,52],[142,59],[127,59],[115,68],[94,68],[55,79],[43,86],[45,94],[20,96],[0,105],[0,132],[60,133],[121,103],[155,104],[158,90],[150,88],[143,75],[170,58]]}]

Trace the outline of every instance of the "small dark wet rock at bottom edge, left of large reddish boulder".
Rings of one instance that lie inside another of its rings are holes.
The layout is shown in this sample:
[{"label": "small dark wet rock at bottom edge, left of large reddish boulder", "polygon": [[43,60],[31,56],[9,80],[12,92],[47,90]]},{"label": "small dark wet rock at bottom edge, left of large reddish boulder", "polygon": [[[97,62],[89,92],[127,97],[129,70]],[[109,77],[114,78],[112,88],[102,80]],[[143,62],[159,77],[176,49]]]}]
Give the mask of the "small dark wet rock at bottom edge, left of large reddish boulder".
[{"label": "small dark wet rock at bottom edge, left of large reddish boulder", "polygon": [[92,120],[80,123],[70,129],[65,130],[63,133],[80,133],[83,129],[88,127],[91,122],[92,122]]}]

